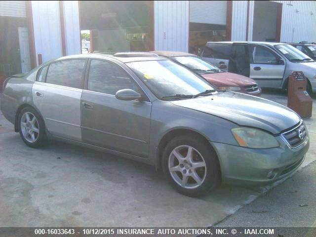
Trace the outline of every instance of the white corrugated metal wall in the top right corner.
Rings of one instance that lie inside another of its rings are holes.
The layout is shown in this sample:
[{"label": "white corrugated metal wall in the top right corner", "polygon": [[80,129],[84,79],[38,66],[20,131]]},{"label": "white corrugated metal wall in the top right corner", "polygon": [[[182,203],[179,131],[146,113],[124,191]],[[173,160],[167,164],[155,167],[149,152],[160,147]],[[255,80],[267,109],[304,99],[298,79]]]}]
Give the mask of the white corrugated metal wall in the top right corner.
[{"label": "white corrugated metal wall in the top right corner", "polygon": [[276,2],[283,3],[281,41],[316,41],[316,1]]}]

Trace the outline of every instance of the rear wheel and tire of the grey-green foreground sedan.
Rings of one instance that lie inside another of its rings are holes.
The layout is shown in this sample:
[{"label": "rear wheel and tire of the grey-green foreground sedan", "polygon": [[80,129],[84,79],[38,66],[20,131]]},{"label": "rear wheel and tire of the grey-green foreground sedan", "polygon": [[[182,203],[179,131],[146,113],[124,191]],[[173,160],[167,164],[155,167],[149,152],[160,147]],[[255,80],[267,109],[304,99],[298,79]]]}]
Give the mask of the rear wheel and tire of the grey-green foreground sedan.
[{"label": "rear wheel and tire of the grey-green foreground sedan", "polygon": [[19,132],[23,142],[32,148],[46,144],[45,125],[40,114],[31,107],[21,110],[18,117]]}]

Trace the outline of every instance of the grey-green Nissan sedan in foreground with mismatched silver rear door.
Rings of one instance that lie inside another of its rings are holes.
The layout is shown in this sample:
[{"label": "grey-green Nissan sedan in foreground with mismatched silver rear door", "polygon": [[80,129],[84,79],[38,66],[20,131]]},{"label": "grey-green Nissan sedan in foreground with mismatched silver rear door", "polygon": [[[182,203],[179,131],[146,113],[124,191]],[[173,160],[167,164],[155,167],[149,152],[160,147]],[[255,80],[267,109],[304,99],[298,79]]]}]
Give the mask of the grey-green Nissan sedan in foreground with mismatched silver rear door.
[{"label": "grey-green Nissan sedan in foreground with mismatched silver rear door", "polygon": [[220,182],[282,179],[309,149],[304,121],[292,110],[218,90],[152,53],[50,61],[6,79],[0,108],[30,147],[57,139],[146,162],[189,196]]}]

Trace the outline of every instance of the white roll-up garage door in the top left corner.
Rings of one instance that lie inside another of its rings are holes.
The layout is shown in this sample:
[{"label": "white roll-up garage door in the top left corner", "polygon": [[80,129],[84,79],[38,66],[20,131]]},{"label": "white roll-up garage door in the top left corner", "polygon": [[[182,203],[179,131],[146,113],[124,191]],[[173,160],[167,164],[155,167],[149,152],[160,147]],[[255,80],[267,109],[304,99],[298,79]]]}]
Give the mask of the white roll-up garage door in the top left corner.
[{"label": "white roll-up garage door in the top left corner", "polygon": [[0,16],[26,17],[25,1],[0,1]]}]

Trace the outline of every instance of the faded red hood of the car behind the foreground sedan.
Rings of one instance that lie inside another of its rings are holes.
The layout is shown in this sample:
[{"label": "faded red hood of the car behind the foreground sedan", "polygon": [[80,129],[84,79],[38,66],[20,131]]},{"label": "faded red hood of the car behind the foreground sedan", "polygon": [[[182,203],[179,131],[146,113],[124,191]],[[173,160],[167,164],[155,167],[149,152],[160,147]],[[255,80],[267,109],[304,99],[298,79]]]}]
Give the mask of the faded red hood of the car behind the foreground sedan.
[{"label": "faded red hood of the car behind the foreground sedan", "polygon": [[238,74],[234,73],[211,73],[211,74],[201,74],[203,78],[209,81],[215,86],[245,86],[254,85],[256,82]]}]

